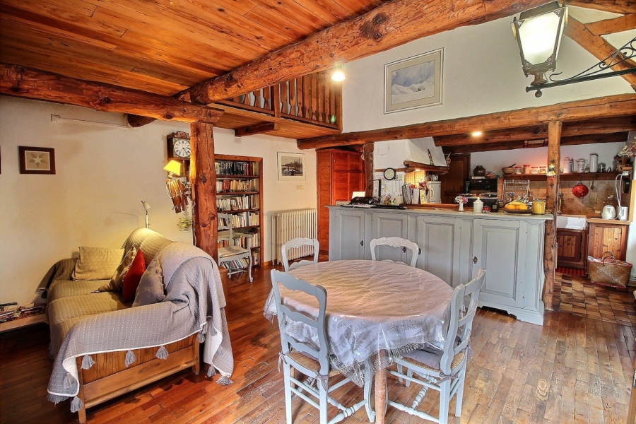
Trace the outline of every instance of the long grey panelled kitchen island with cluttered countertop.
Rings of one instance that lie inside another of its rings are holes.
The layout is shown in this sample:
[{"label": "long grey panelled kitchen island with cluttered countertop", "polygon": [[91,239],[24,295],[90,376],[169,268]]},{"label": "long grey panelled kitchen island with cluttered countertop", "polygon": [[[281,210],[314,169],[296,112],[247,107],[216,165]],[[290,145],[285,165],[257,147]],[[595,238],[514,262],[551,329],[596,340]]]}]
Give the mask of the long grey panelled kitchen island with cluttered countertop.
[{"label": "long grey panelled kitchen island with cluttered countertop", "polygon": [[[371,240],[402,237],[420,247],[417,266],[452,287],[483,267],[479,305],[543,324],[543,242],[549,215],[472,211],[329,208],[329,260],[371,259]],[[380,246],[377,257],[411,260],[410,252]],[[423,293],[425,295],[425,293]]]}]

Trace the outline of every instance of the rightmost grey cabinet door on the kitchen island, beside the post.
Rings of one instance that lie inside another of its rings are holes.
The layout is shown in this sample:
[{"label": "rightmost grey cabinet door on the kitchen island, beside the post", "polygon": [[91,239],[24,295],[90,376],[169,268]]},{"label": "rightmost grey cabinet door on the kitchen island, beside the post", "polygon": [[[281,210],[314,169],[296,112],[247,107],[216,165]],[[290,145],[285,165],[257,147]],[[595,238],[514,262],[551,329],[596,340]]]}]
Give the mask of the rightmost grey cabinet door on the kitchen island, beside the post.
[{"label": "rightmost grey cabinet door on the kitchen island, beside the post", "polygon": [[488,271],[480,301],[524,307],[526,226],[521,221],[473,220],[473,274],[480,266]]}]

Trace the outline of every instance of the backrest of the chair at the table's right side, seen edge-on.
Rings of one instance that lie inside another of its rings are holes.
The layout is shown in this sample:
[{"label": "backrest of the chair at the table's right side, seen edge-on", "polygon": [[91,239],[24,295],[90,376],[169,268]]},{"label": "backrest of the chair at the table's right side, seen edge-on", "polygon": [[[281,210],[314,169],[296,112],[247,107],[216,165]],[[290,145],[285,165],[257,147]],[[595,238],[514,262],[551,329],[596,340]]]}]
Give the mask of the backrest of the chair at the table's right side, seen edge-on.
[{"label": "backrest of the chair at the table's right side, seen edge-on", "polygon": [[[475,278],[466,283],[466,285],[458,285],[453,290],[449,329],[444,339],[444,354],[440,361],[442,372],[449,373],[451,371],[450,365],[454,356],[464,350],[470,343],[473,319],[477,313],[477,300],[485,279],[485,273],[485,269],[478,269]],[[468,305],[466,305],[466,297],[469,297]],[[455,345],[456,341],[459,342],[457,346]]]}]

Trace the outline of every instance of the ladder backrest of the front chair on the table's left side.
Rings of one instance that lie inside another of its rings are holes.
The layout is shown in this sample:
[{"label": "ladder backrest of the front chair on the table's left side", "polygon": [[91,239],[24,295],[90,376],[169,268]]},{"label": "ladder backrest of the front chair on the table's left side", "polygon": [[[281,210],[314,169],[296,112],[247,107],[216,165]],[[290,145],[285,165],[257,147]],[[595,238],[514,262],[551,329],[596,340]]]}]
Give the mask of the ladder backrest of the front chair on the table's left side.
[{"label": "ladder backrest of the front chair on the table's left side", "polygon": [[[281,300],[281,291],[278,285],[283,285],[287,290],[298,290],[302,293],[312,296],[316,299],[318,305],[317,317],[306,312],[293,310],[284,305]],[[276,300],[276,314],[278,315],[278,330],[281,333],[281,343],[283,345],[283,354],[289,353],[291,349],[295,349],[300,353],[305,353],[310,357],[317,359],[320,363],[320,374],[327,375],[329,372],[329,341],[326,338],[326,290],[322,285],[312,285],[307,281],[299,280],[288,273],[271,270],[271,285]],[[287,334],[286,324],[288,322],[302,322],[316,329],[318,333],[319,350],[307,343],[301,343],[292,336]]]}]

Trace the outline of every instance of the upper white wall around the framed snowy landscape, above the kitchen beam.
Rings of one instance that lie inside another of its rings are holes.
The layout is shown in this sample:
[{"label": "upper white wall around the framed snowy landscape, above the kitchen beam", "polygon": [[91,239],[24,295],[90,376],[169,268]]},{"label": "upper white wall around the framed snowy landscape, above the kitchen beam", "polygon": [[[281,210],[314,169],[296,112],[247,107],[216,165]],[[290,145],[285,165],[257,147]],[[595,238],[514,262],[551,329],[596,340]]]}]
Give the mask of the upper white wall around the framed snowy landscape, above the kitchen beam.
[{"label": "upper white wall around the framed snowy landscape, above the kitchen beam", "polygon": [[[468,117],[504,110],[552,105],[603,95],[633,93],[620,77],[543,90],[541,98],[526,93],[512,18],[502,18],[432,35],[345,66],[343,131],[363,131]],[[444,48],[442,105],[384,114],[384,65]],[[596,59],[563,37],[558,70],[569,77],[596,64]]]}]

